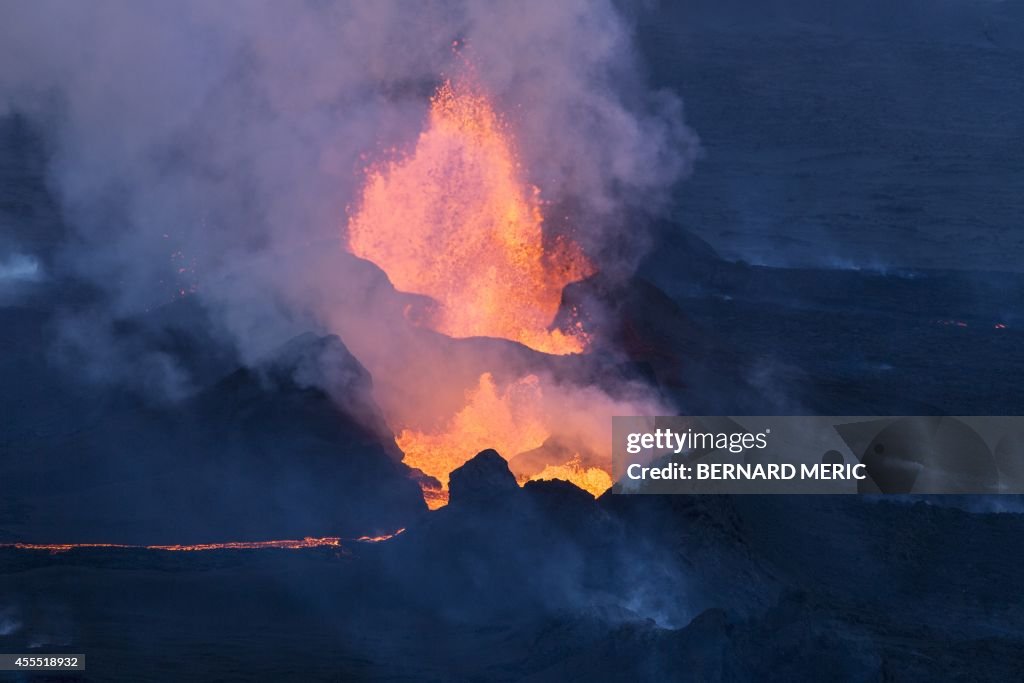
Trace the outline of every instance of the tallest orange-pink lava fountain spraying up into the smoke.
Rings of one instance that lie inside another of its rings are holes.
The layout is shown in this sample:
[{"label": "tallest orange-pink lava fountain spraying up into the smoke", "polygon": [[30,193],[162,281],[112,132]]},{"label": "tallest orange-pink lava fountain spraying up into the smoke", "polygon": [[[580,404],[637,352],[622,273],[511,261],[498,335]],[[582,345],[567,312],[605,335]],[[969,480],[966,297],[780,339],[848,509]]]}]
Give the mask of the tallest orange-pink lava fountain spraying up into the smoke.
[{"label": "tallest orange-pink lava fountain spraying up into the smoke", "polygon": [[398,290],[436,301],[438,332],[580,352],[581,330],[548,328],[562,288],[592,267],[567,240],[545,245],[543,221],[540,191],[523,181],[490,101],[447,81],[412,155],[368,172],[348,244]]}]

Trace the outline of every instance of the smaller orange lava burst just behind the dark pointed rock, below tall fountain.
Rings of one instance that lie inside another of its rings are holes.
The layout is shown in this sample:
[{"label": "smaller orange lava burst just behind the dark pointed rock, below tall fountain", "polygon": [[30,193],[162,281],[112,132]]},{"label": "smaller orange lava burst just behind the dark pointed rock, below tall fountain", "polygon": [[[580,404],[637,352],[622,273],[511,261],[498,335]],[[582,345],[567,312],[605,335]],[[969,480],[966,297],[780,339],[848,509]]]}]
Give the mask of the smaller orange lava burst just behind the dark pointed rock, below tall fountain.
[{"label": "smaller orange lava burst just behind the dark pointed rock, below tall fountain", "polygon": [[544,443],[549,432],[537,414],[541,399],[540,380],[535,375],[500,391],[490,374],[485,373],[476,388],[468,392],[466,407],[443,430],[402,430],[395,440],[406,454],[403,462],[441,482],[441,490],[429,489],[427,506],[436,509],[447,503],[449,474],[480,451],[495,449],[514,455]]}]

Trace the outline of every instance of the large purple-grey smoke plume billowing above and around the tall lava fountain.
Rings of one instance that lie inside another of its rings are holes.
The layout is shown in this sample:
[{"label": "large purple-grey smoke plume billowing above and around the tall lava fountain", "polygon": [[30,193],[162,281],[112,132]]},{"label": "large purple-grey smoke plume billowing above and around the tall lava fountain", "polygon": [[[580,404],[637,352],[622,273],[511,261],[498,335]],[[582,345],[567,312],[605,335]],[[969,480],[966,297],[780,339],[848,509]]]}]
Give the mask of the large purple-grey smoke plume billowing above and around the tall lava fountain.
[{"label": "large purple-grey smoke plume billowing above and around the tall lava fountain", "polygon": [[[681,102],[644,87],[605,1],[6,3],[0,113],[46,133],[71,232],[59,267],[108,297],[90,316],[195,296],[254,358],[337,328],[339,297],[370,298],[373,279],[325,253],[341,250],[367,161],[419,133],[464,58],[455,41],[589,248],[688,171]],[[76,318],[66,341],[88,345],[85,329]],[[151,368],[181,390],[162,358]]]}]

